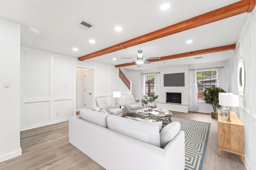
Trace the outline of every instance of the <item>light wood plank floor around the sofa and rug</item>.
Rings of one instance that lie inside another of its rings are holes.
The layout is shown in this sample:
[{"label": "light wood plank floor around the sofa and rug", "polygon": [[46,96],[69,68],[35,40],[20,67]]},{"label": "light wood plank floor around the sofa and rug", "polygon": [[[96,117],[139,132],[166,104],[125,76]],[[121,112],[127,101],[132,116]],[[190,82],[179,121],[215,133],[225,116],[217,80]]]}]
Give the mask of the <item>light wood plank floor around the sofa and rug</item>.
[{"label": "light wood plank floor around the sofa and rug", "polygon": [[[211,123],[203,170],[246,170],[241,156],[218,156],[218,121],[205,113],[172,111],[174,117]],[[0,170],[104,170],[68,143],[68,121],[20,132],[22,156],[0,163]],[[99,153],[100,154],[100,153]]]}]

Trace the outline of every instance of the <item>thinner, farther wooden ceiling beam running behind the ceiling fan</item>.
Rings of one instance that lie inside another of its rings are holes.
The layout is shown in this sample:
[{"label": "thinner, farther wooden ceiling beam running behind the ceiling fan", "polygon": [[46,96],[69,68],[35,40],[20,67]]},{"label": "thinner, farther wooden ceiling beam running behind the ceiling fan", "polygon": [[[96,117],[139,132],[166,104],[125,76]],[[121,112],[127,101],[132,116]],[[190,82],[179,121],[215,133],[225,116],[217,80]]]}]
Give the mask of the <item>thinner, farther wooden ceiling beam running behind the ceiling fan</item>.
[{"label": "thinner, farther wooden ceiling beam running behind the ceiling fan", "polygon": [[[177,59],[177,58],[182,58],[182,57],[189,57],[189,56],[193,56],[193,55],[216,53],[216,52],[220,52],[220,51],[234,50],[234,49],[236,49],[236,45],[232,44],[232,45],[225,45],[225,46],[221,46],[221,47],[214,47],[214,48],[210,48],[210,49],[191,51],[191,52],[187,52],[187,53],[168,55],[165,57],[160,57],[160,59],[148,60],[148,61],[150,61],[150,62],[164,61],[164,60]],[[136,65],[136,63],[133,62],[133,63],[119,64],[119,65],[116,65],[115,67],[118,68],[118,67],[124,67],[124,66],[132,66],[132,65]]]}]

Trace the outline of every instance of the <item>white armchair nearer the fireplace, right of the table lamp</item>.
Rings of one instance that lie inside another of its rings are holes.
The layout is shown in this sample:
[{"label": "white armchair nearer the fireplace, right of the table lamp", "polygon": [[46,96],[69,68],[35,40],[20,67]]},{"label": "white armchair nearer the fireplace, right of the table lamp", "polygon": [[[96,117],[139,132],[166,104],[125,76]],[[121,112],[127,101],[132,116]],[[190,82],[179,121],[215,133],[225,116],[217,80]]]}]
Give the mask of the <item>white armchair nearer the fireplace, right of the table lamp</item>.
[{"label": "white armchair nearer the fireplace, right of the table lamp", "polygon": [[124,110],[128,113],[135,113],[137,109],[142,109],[141,102],[135,102],[133,95],[123,95]]}]

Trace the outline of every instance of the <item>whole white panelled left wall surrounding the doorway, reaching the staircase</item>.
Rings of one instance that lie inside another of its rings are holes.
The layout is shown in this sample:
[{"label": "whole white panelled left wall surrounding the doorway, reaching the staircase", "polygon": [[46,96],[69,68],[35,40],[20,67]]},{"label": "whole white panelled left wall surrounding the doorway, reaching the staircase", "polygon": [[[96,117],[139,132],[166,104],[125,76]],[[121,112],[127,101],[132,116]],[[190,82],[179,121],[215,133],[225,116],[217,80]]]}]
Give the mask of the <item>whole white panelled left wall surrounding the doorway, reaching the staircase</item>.
[{"label": "whole white panelled left wall surrounding the doorway, reaching the staircase", "polygon": [[[114,65],[22,47],[20,66],[21,130],[66,121],[76,109],[83,108],[83,94],[77,93],[83,91],[84,68],[94,69],[94,98],[107,97],[111,105],[113,91],[128,93]],[[78,79],[80,74],[82,78]]]}]

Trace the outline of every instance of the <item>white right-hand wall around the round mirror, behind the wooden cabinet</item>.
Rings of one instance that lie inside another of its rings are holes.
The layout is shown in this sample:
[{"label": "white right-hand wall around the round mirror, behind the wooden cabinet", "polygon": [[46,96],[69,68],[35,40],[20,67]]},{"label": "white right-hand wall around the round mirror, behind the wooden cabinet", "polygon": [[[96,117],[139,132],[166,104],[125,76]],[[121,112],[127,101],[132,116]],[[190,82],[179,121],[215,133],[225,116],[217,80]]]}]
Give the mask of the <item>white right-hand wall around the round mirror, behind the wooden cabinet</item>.
[{"label": "white right-hand wall around the round mirror, behind the wooden cabinet", "polygon": [[230,89],[238,94],[238,61],[244,59],[245,89],[239,97],[240,107],[232,107],[244,124],[245,165],[248,170],[256,169],[256,14],[250,13],[248,24],[240,38],[234,56],[230,59]]}]

